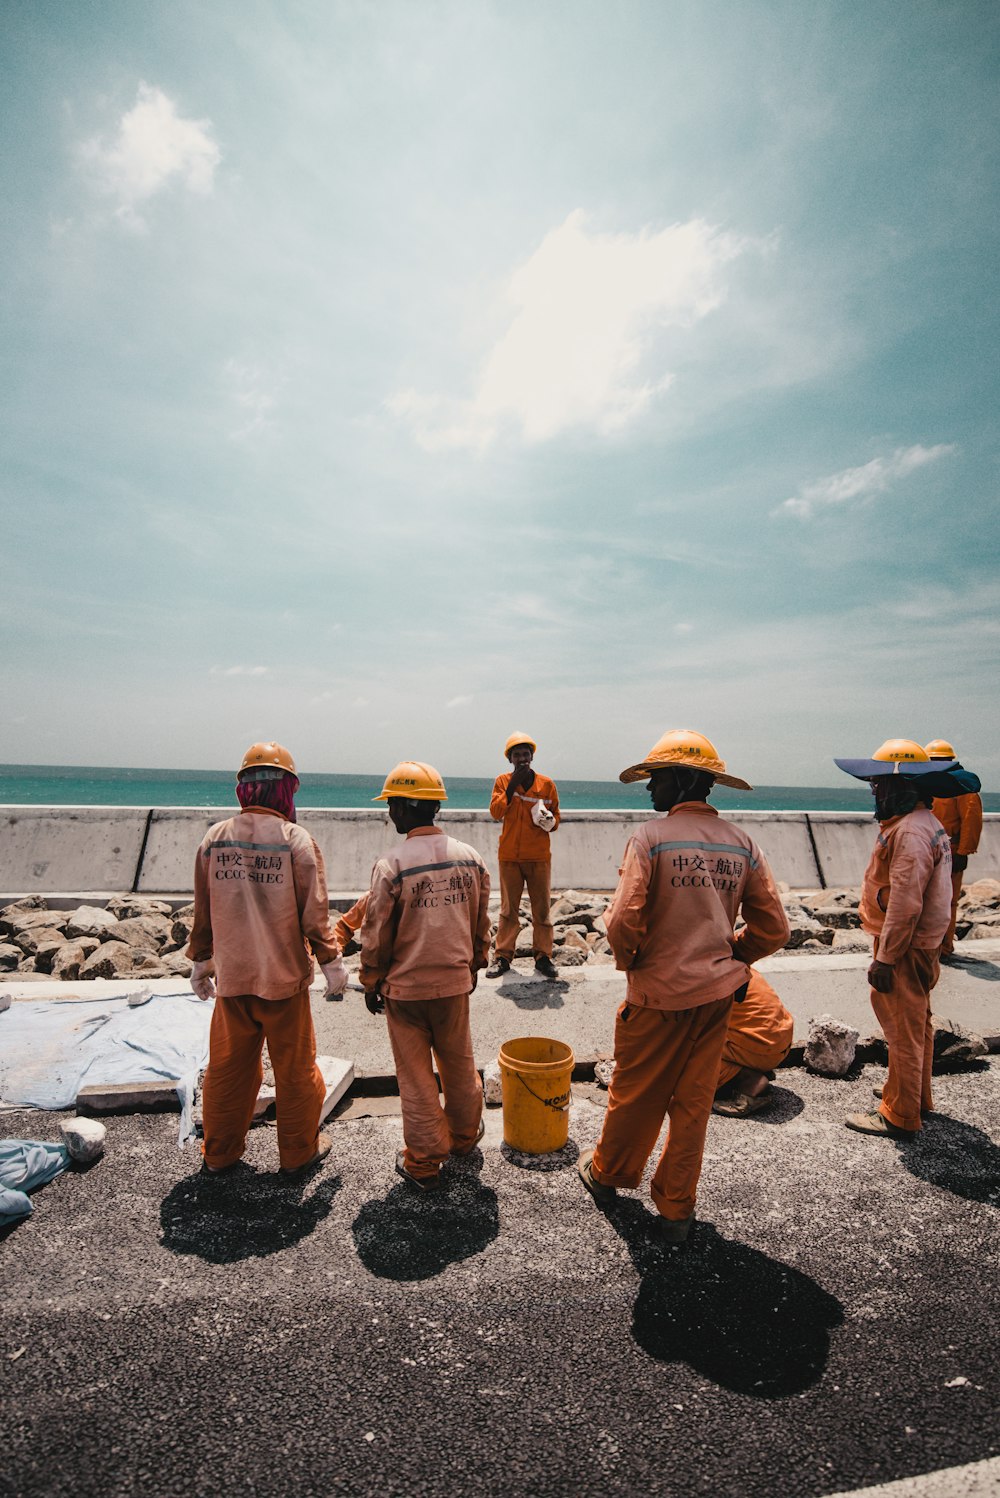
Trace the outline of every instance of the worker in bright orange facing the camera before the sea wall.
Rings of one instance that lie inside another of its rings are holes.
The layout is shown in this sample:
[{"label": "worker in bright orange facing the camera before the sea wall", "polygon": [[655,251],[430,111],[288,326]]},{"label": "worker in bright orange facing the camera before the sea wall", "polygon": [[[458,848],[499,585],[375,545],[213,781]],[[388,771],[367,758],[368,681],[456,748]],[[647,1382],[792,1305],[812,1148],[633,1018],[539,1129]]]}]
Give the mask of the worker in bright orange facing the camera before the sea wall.
[{"label": "worker in bright orange facing the camera before the sea wall", "polygon": [[500,831],[500,921],[497,947],[488,978],[510,971],[521,923],[521,891],[527,885],[531,902],[531,942],[534,971],[543,978],[558,977],[552,963],[552,918],[549,915],[552,852],[549,834],[558,827],[558,792],[546,774],[531,768],[537,745],[527,734],[510,734],[503,752],[512,768],[499,774],[490,798],[490,815],[503,822]]}]

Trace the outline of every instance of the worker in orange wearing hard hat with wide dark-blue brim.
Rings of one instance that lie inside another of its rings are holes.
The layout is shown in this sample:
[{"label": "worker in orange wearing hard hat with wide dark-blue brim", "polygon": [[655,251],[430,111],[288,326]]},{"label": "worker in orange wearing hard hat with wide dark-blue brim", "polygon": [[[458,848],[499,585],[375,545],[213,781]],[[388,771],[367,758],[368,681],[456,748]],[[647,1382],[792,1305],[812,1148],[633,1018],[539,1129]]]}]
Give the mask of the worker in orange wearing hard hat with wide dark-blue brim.
[{"label": "worker in orange wearing hard hat with wide dark-blue brim", "polygon": [[888,739],[871,759],[834,764],[868,780],[876,803],[879,836],[858,914],[874,938],[871,1007],[889,1047],[879,1110],[850,1113],[846,1124],[859,1134],[907,1138],[934,1106],[931,989],[952,908],[951,845],[931,804],[978,791],[979,779],[955,759],[931,759],[912,739]]}]

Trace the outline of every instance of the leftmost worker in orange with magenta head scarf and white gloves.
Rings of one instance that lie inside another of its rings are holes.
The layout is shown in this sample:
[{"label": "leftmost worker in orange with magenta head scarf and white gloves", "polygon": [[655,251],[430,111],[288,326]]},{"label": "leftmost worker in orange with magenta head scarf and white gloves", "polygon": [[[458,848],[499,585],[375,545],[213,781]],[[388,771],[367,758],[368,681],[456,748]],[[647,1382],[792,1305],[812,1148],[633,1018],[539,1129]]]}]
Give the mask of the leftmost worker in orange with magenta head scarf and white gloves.
[{"label": "leftmost worker in orange with magenta head scarf and white gloves", "polygon": [[308,1002],[313,953],[331,993],[343,992],[347,969],[329,918],[323,857],[295,821],[296,789],[287,749],[251,745],[237,774],[243,810],[210,827],[195,858],[190,981],[199,999],[216,999],[202,1091],[208,1174],[243,1156],[265,1040],[281,1171],[301,1177],[329,1153],[329,1137],[319,1132],[326,1086]]}]

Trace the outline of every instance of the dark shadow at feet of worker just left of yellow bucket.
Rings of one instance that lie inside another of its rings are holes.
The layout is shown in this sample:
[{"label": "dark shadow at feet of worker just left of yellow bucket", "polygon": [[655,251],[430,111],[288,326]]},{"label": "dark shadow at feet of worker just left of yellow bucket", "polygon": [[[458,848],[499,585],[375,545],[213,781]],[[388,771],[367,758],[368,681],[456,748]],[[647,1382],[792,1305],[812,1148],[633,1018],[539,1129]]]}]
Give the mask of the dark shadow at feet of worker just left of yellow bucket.
[{"label": "dark shadow at feet of worker just left of yellow bucket", "polygon": [[500,1207],[476,1165],[478,1149],[445,1165],[442,1191],[424,1194],[401,1180],[382,1200],[365,1201],[350,1224],[365,1269],[379,1279],[433,1279],[482,1254],[500,1231]]}]

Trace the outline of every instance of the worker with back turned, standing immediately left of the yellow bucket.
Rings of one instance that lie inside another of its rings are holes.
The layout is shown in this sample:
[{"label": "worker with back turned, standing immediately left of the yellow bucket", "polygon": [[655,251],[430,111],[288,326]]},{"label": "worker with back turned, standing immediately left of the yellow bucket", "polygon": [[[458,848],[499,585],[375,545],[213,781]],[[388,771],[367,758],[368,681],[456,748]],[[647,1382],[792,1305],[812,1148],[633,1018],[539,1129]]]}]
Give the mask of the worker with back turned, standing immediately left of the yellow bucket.
[{"label": "worker with back turned, standing immediately left of the yellow bucket", "polygon": [[389,1025],[406,1146],[395,1168],[419,1191],[437,1191],[448,1155],[467,1155],[484,1134],[469,995],[490,951],[490,873],[475,848],[434,825],[448,792],[433,765],[398,764],[376,800],[389,803],[406,842],[371,870],[361,984],[368,1010],[385,1010]]}]

